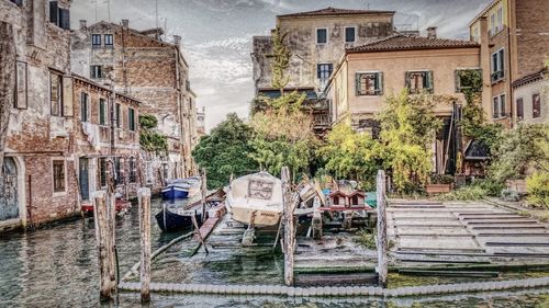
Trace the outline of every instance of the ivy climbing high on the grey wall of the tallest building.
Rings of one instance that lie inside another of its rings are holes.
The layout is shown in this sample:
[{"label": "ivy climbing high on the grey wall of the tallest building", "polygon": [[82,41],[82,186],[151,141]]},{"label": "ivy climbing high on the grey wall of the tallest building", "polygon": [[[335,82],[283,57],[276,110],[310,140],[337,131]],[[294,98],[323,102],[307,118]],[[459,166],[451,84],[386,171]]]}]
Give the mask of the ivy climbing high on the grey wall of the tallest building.
[{"label": "ivy climbing high on the grey wall of the tallest building", "polygon": [[272,60],[271,60],[271,84],[274,89],[282,89],[288,84],[288,76],[284,71],[290,66],[290,49],[284,43],[288,33],[282,33],[280,27],[276,27],[272,33]]}]

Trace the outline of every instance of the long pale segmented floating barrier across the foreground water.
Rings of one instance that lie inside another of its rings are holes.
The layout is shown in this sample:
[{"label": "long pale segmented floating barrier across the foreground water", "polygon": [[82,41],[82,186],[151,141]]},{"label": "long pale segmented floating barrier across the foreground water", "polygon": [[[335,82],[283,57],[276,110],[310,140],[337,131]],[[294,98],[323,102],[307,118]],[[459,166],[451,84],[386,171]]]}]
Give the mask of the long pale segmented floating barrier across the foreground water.
[{"label": "long pale segmented floating barrier across the foreground water", "polygon": [[[347,287],[288,287],[281,285],[211,285],[211,284],[164,284],[152,283],[150,292],[183,294],[226,295],[282,295],[289,297],[316,296],[379,296],[406,297],[417,295],[459,294],[470,292],[495,292],[504,289],[536,288],[549,286],[549,277],[481,283],[425,285],[414,287],[381,288],[376,286]],[[139,292],[139,283],[120,283],[120,290]]]}]

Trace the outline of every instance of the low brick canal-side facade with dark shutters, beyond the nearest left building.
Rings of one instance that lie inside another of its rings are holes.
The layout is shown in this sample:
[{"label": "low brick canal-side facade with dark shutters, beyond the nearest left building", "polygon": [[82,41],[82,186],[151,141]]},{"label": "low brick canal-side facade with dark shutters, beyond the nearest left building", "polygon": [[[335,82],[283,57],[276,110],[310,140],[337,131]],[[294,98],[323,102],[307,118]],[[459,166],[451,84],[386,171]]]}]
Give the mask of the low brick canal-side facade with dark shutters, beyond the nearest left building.
[{"label": "low brick canal-side facade with dark shutters, beyond the nearest left building", "polygon": [[141,155],[141,102],[74,75],[75,148],[81,203],[91,203],[96,191],[107,190],[108,161],[114,162],[119,196],[136,196]]}]

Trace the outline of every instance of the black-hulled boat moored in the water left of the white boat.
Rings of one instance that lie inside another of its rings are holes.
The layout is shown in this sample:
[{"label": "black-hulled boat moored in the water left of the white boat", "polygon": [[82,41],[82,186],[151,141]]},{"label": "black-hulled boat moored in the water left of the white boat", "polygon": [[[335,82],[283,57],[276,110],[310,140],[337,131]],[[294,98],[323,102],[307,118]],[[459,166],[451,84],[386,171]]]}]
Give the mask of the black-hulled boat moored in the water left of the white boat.
[{"label": "black-hulled boat moored in the water left of the white boat", "polygon": [[[216,207],[223,203],[224,192],[216,191],[205,198],[206,209]],[[208,217],[208,212],[206,212]],[[192,229],[194,224],[192,217],[197,219],[199,227],[202,225],[202,201],[195,201],[182,208],[177,208],[175,204],[165,206],[158,214],[155,215],[158,227],[165,232],[177,232]],[[205,220],[205,219],[204,219]]]}]

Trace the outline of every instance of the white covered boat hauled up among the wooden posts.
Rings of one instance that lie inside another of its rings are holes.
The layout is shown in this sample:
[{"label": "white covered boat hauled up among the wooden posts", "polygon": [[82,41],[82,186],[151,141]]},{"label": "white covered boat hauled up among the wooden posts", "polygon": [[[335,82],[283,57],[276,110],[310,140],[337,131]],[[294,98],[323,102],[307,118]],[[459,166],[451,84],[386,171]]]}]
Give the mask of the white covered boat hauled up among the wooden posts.
[{"label": "white covered boat hauled up among the wooden posts", "polygon": [[265,171],[238,178],[231,182],[225,204],[232,218],[244,225],[251,220],[255,227],[278,225],[282,215],[282,182]]}]

